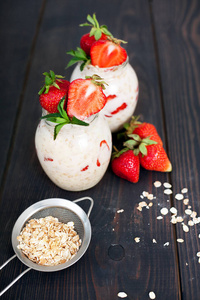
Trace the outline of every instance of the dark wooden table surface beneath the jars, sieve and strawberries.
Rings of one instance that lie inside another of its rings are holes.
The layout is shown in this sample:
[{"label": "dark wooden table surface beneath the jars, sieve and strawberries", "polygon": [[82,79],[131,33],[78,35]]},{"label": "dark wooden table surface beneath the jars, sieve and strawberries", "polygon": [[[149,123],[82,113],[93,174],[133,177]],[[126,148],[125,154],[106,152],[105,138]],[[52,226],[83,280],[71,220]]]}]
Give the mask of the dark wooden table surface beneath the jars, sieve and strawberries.
[{"label": "dark wooden table surface beneath the jars, sieve and strawberries", "polygon": [[[94,188],[68,192],[56,187],[38,162],[34,135],[41,108],[37,92],[44,71],[67,79],[73,68],[66,51],[79,45],[87,14],[96,12],[126,49],[140,85],[136,115],[153,123],[173,165],[170,174],[141,170],[129,183],[109,167]],[[92,239],[86,254],[72,267],[55,273],[31,270],[2,299],[110,300],[200,299],[200,2],[199,0],[34,0],[0,4],[0,264],[14,254],[11,232],[18,216],[46,198],[74,200],[90,196]],[[154,182],[162,186],[155,188]],[[173,194],[164,194],[163,183]],[[183,188],[189,204],[177,200]],[[137,209],[143,192],[153,206]],[[183,221],[171,223],[175,207]],[[83,206],[85,209],[85,207]],[[190,224],[192,225],[192,224]],[[137,239],[139,242],[137,243]],[[182,239],[183,242],[177,242]],[[16,258],[0,274],[4,289],[26,267]]]}]

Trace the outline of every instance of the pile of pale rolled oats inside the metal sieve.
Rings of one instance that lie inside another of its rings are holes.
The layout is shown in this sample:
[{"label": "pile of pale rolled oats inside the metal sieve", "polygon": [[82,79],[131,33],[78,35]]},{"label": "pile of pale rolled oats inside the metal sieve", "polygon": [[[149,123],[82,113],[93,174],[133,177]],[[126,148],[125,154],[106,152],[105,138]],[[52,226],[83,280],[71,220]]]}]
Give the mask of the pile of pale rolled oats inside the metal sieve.
[{"label": "pile of pale rolled oats inside the metal sieve", "polygon": [[17,246],[31,261],[55,266],[72,259],[81,245],[74,223],[61,223],[48,216],[31,219],[17,237]]}]

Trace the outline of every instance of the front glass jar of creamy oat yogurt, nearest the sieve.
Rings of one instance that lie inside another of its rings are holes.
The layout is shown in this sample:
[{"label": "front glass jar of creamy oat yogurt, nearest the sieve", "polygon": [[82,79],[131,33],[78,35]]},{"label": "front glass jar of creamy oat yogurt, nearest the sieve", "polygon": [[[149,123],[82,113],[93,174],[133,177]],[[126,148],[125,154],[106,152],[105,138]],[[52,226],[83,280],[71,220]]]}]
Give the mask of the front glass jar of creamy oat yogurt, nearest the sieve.
[{"label": "front glass jar of creamy oat yogurt, nearest the sieve", "polygon": [[47,176],[60,188],[82,191],[95,186],[109,165],[112,139],[101,114],[86,120],[89,126],[66,124],[54,140],[55,123],[42,119],[35,147]]}]

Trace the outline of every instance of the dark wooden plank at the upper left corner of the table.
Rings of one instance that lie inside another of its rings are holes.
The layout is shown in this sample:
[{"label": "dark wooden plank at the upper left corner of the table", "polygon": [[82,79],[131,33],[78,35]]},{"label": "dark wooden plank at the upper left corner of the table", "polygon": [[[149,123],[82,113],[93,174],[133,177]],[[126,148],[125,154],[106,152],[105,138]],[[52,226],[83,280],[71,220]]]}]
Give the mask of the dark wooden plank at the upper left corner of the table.
[{"label": "dark wooden plank at the upper left corner of the table", "polygon": [[0,3],[0,88],[1,152],[0,181],[12,147],[12,132],[24,93],[31,47],[41,8],[41,1],[1,1]]}]

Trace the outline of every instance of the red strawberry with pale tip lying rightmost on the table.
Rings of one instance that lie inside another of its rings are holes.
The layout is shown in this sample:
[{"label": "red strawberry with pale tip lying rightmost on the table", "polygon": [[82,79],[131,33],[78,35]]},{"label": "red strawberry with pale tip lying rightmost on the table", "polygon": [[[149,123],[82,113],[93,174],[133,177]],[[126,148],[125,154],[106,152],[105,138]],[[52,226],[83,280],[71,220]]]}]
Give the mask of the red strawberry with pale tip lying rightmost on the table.
[{"label": "red strawberry with pale tip lying rightmost on the table", "polygon": [[146,149],[146,155],[139,153],[140,164],[143,168],[152,171],[171,172],[172,165],[162,145],[148,145]]}]

